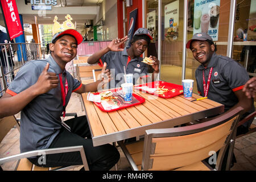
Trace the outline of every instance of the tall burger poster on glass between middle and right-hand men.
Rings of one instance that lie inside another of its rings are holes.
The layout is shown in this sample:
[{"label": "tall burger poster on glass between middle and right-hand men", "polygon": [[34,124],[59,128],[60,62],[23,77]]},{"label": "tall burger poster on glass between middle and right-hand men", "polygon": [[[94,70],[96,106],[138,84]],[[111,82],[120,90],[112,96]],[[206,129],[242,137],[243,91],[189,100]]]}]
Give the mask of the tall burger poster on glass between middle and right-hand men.
[{"label": "tall burger poster on glass between middle and right-hand men", "polygon": [[179,26],[179,0],[164,6],[164,36],[167,40],[177,40]]}]

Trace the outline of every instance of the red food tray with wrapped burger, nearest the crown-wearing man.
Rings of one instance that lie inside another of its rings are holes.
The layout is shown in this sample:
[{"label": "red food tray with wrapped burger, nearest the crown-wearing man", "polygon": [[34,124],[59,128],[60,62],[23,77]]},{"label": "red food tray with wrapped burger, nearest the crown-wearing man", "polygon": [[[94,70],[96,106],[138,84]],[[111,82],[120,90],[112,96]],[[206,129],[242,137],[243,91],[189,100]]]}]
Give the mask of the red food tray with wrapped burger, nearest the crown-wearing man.
[{"label": "red food tray with wrapped burger, nearest the crown-wearing man", "polygon": [[[98,108],[102,111],[111,112],[111,111],[115,111],[115,110],[119,110],[119,109],[124,109],[126,107],[139,105],[139,104],[142,104],[143,102],[145,102],[145,99],[143,97],[138,96],[137,94],[133,93],[133,97],[131,99],[131,102],[126,103],[125,100],[123,100],[123,97],[122,97],[123,95],[122,95],[122,89],[121,88],[110,89],[110,91],[113,92],[113,95],[112,95],[111,99],[101,101],[101,103],[94,102],[94,104],[96,106],[98,106]],[[94,93],[94,95],[97,95],[97,94],[100,94],[100,93],[101,92]],[[102,105],[102,104],[104,104],[104,105]],[[109,106],[109,107],[106,107],[106,106]]]}]

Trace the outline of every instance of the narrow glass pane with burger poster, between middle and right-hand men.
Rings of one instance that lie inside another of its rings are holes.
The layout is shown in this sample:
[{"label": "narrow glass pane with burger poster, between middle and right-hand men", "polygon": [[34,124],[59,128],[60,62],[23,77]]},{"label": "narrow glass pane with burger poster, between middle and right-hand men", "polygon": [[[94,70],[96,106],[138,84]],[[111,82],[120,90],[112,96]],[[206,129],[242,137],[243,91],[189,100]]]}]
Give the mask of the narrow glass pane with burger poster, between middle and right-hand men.
[{"label": "narrow glass pane with burger poster, between middle and right-hand men", "polygon": [[160,80],[181,84],[183,0],[161,1]]}]

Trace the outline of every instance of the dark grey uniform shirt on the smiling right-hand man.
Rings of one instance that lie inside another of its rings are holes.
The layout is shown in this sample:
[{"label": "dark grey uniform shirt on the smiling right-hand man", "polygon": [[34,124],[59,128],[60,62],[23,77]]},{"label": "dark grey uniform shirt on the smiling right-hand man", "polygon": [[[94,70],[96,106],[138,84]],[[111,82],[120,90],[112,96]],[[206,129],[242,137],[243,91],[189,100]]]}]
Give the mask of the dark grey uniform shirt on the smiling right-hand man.
[{"label": "dark grey uniform shirt on the smiling right-hand man", "polygon": [[[211,68],[212,74],[210,75],[207,97],[210,100],[225,105],[225,111],[227,111],[238,103],[238,98],[234,92],[243,88],[245,83],[249,80],[249,76],[246,72],[246,69],[243,68],[242,65],[237,63],[235,60],[213,53],[207,68],[201,64],[196,69],[195,76],[197,82],[197,90],[200,95],[204,97],[203,72],[205,77],[205,88],[207,88],[207,82]],[[249,111],[249,113],[252,111],[254,111],[254,105],[253,109]]]}]

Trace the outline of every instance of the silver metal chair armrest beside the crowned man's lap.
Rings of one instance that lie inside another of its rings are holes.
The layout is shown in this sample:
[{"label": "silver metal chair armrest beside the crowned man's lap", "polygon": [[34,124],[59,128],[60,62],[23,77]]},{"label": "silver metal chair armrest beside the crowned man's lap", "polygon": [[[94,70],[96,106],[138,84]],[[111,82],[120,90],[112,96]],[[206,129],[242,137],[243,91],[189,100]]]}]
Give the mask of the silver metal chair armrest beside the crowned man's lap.
[{"label": "silver metal chair armrest beside the crowned man's lap", "polygon": [[72,147],[59,147],[59,148],[48,148],[44,150],[34,150],[29,152],[23,152],[21,154],[16,154],[12,156],[8,156],[6,158],[0,159],[0,164],[10,162],[12,160],[19,160],[23,158],[29,158],[32,156],[38,156],[38,155],[47,155],[47,154],[60,154],[65,152],[76,152],[79,151],[81,158],[82,158],[82,164],[84,165],[84,168],[86,171],[89,171],[88,163],[86,160],[84,147],[82,146],[72,146]]}]

